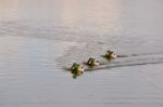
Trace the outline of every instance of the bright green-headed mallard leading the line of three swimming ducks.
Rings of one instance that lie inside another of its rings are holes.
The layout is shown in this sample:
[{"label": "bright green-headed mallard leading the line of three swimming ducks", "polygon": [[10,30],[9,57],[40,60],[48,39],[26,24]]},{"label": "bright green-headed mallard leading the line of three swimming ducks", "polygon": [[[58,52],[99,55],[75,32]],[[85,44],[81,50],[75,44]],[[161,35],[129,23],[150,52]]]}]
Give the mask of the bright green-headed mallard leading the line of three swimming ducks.
[{"label": "bright green-headed mallard leading the line of three swimming ducks", "polygon": [[71,70],[83,73],[85,71],[85,68],[83,65],[74,63],[73,66],[71,67]]}]

